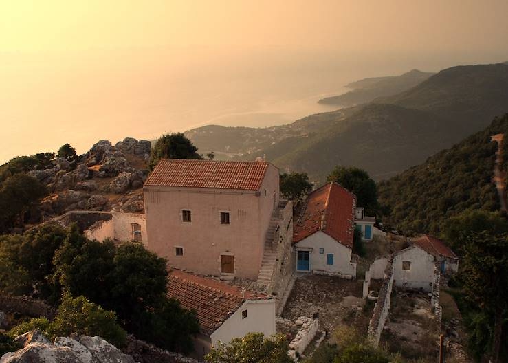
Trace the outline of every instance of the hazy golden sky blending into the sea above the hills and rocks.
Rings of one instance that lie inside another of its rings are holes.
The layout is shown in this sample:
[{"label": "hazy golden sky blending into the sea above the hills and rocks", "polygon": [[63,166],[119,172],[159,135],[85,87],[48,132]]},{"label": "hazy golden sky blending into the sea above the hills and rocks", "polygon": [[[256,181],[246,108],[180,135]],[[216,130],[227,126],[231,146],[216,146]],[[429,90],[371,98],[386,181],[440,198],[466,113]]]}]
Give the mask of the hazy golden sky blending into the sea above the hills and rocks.
[{"label": "hazy golden sky blending into the sea above the hills and rocks", "polygon": [[507,61],[506,14],[506,0],[0,0],[0,162],[290,122],[355,78]]}]

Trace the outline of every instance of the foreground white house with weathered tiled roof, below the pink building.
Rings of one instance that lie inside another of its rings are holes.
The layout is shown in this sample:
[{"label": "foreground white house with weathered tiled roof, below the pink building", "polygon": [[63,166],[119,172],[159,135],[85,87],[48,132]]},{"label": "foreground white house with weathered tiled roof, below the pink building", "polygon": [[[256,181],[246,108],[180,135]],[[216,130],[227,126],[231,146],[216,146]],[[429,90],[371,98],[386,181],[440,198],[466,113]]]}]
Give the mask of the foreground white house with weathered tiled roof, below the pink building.
[{"label": "foreground white house with weathered tiled roof, below the pink building", "polygon": [[168,297],[182,307],[194,309],[199,319],[195,355],[203,358],[217,342],[230,342],[247,333],[275,333],[276,300],[214,278],[172,270],[168,276]]}]

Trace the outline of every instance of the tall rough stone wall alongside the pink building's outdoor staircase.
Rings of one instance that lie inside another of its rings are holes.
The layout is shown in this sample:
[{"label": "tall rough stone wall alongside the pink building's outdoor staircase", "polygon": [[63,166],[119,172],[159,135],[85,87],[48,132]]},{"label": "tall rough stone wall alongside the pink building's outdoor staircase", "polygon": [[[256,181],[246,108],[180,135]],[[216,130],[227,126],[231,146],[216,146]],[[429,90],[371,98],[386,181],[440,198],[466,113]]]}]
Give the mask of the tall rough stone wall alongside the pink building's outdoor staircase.
[{"label": "tall rough stone wall alongside the pink building's outdoor staircase", "polygon": [[277,260],[274,266],[274,274],[272,275],[272,283],[269,285],[267,292],[278,297],[277,311],[280,311],[280,303],[284,301],[284,296],[289,295],[294,285],[294,273],[296,270],[296,254],[292,245],[292,201],[287,201],[283,210],[280,211],[280,223],[275,241],[278,243]]}]

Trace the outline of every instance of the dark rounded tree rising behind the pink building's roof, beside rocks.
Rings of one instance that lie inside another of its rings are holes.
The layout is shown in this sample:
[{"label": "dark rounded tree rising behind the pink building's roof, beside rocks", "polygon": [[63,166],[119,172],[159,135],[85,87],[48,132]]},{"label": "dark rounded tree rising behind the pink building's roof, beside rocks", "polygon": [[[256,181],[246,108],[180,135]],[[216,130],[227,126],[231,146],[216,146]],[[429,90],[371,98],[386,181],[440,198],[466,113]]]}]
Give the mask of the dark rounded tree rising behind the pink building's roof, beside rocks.
[{"label": "dark rounded tree rising behind the pink building's roof, beside rocks", "polygon": [[160,159],[201,159],[201,155],[183,133],[166,133],[152,148],[148,168],[153,170]]}]

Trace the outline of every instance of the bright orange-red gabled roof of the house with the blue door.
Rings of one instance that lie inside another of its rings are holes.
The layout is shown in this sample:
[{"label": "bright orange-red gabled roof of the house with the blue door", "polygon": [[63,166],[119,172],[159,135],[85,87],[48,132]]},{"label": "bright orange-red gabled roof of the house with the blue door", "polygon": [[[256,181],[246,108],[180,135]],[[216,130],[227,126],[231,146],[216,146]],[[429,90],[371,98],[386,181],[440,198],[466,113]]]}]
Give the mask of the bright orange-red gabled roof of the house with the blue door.
[{"label": "bright orange-red gabled roof of the house with the blue door", "polygon": [[353,248],[355,200],[353,193],[336,183],[311,192],[305,211],[294,226],[293,243],[322,230],[335,241]]}]

